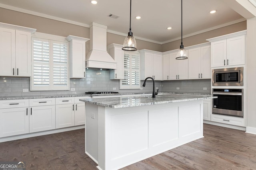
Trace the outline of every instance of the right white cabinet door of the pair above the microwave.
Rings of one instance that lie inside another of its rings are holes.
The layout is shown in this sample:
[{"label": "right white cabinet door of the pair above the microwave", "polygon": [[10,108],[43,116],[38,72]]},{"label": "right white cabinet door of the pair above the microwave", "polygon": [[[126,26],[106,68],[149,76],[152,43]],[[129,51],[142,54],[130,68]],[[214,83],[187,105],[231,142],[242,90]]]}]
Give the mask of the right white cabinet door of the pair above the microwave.
[{"label": "right white cabinet door of the pair above the microwave", "polygon": [[245,64],[245,35],[227,39],[227,65]]}]

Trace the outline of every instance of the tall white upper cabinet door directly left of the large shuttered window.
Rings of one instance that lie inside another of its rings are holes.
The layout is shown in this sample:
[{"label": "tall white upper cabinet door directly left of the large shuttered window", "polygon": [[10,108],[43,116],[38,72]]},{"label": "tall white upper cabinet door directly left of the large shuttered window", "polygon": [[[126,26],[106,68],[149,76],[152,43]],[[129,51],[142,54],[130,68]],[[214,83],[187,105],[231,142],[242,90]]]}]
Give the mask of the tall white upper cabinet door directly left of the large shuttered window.
[{"label": "tall white upper cabinet door directly left of the large shuttered window", "polygon": [[31,76],[31,33],[16,30],[16,76]]}]

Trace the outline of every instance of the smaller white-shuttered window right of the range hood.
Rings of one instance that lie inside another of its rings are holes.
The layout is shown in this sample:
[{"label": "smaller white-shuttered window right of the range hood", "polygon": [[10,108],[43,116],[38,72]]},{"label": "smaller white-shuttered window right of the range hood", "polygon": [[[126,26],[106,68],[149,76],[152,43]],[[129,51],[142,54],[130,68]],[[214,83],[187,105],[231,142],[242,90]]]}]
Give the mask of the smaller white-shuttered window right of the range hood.
[{"label": "smaller white-shuttered window right of the range hood", "polygon": [[140,89],[140,54],[124,53],[124,79],[120,89]]}]

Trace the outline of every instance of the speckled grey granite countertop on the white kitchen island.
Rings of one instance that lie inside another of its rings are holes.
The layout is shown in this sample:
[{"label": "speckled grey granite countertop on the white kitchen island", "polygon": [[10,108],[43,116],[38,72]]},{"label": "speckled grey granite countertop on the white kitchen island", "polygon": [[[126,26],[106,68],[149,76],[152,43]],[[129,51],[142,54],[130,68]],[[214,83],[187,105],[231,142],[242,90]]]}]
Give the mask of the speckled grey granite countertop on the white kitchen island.
[{"label": "speckled grey granite countertop on the white kitchen island", "polygon": [[192,94],[162,94],[156,95],[156,98],[152,96],[131,96],[131,97],[116,97],[116,98],[90,98],[90,99],[80,99],[82,102],[87,102],[90,104],[96,104],[111,108],[124,108],[124,107],[134,107],[134,106],[145,106],[153,104],[167,104],[174,102],[187,102],[193,100],[205,100],[216,98],[212,96],[203,95],[192,95]]}]

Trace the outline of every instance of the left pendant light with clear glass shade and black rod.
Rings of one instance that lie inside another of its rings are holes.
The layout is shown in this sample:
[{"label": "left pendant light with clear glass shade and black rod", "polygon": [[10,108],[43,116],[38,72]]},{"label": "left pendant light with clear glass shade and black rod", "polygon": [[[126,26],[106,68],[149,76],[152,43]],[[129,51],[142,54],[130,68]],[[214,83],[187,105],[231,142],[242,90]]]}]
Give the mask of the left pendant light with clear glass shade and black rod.
[{"label": "left pendant light with clear glass shade and black rod", "polygon": [[124,45],[122,48],[122,50],[124,51],[137,50],[136,40],[132,36],[132,31],[131,31],[131,12],[132,12],[132,0],[130,0],[130,31],[128,32],[128,36],[124,39]]}]

